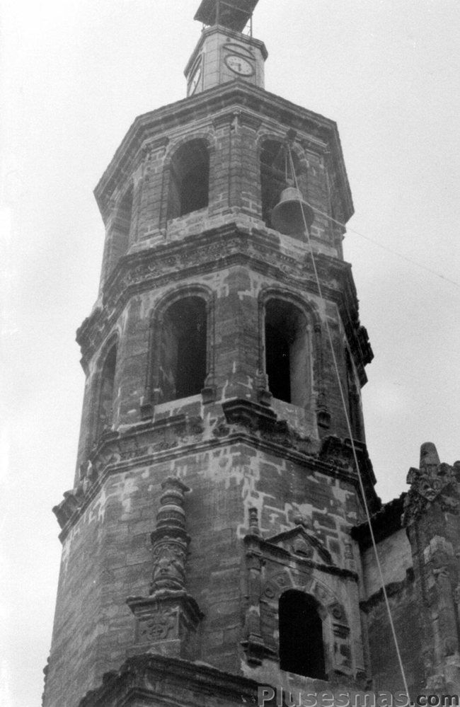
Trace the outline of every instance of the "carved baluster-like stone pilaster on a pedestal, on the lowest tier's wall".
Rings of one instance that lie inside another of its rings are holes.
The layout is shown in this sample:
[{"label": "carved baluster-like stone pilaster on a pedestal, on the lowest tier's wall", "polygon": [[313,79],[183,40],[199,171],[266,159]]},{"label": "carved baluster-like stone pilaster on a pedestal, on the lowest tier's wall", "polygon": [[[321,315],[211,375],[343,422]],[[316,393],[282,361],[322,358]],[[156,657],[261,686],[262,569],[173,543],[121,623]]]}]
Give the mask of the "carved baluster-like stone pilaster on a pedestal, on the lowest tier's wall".
[{"label": "carved baluster-like stone pilaster on a pedestal, on the lowest tier's wall", "polygon": [[196,658],[196,630],[202,613],[185,589],[190,537],[185,531],[184,496],[190,489],[176,477],[161,484],[163,494],[151,534],[154,569],[149,597],[128,597],[137,619],[136,650]]}]

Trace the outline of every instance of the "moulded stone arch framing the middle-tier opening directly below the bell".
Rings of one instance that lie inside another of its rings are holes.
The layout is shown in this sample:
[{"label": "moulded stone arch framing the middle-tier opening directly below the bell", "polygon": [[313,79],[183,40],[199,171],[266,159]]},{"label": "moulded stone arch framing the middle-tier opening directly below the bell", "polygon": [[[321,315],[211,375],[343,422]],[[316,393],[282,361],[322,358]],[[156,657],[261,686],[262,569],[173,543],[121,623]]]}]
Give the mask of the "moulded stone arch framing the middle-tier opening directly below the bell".
[{"label": "moulded stone arch framing the middle-tier opening directly below the bell", "polygon": [[[305,362],[308,359],[309,370],[305,371],[303,374],[304,377],[308,376],[308,381],[306,380],[304,383],[304,391],[301,393],[299,390],[299,397],[292,401],[288,400],[287,402],[301,404],[305,408],[310,408],[313,406],[312,401],[316,395],[316,391],[321,389],[321,381],[323,376],[321,320],[319,318],[318,311],[314,304],[306,302],[298,292],[293,292],[287,288],[263,287],[263,289],[260,290],[258,297],[258,372],[259,375],[261,374],[263,377],[265,386],[267,386],[268,389],[270,389],[270,380],[267,370],[268,341],[266,321],[268,316],[268,303],[270,301],[280,303],[280,316],[282,316],[282,310],[286,309],[286,311],[288,311],[290,306],[292,316],[295,316],[295,312],[292,310],[292,307],[295,307],[304,318],[304,323],[300,323],[298,325],[304,327],[304,332],[301,334],[299,333],[299,340],[295,343],[297,348],[292,351],[292,355],[297,357],[297,360],[303,361],[302,365],[304,366],[306,366]],[[292,324],[292,326],[295,327],[295,323]],[[282,331],[280,333],[282,334]],[[286,337],[289,338],[289,335],[295,338],[295,332],[292,331],[289,334],[287,331]],[[294,377],[297,374],[301,375],[301,372],[295,372],[293,369],[292,376]],[[303,396],[302,400],[300,400],[301,396]]]}]

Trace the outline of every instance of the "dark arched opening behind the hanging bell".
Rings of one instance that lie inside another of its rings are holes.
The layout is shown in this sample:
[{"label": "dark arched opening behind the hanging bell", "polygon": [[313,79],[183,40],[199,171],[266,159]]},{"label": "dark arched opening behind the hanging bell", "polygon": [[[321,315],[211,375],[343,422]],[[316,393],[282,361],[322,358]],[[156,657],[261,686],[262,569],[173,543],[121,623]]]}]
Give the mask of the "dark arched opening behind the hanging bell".
[{"label": "dark arched opening behind the hanging bell", "polygon": [[[299,183],[304,189],[304,176],[301,173],[299,159],[293,152],[292,161]],[[292,169],[286,146],[277,140],[265,140],[260,151],[260,193],[262,197],[262,218],[267,226],[272,227],[272,210],[280,202],[281,192],[292,179]]]}]

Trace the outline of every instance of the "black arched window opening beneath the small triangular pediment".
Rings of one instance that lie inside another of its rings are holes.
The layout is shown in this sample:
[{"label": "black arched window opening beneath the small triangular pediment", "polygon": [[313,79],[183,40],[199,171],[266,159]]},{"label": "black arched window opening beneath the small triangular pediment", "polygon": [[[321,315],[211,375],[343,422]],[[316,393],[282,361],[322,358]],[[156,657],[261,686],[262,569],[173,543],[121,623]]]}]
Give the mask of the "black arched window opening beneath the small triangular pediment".
[{"label": "black arched window opening beneath the small triangular pediment", "polygon": [[305,677],[327,679],[323,622],[316,600],[299,590],[280,597],[280,668]]}]

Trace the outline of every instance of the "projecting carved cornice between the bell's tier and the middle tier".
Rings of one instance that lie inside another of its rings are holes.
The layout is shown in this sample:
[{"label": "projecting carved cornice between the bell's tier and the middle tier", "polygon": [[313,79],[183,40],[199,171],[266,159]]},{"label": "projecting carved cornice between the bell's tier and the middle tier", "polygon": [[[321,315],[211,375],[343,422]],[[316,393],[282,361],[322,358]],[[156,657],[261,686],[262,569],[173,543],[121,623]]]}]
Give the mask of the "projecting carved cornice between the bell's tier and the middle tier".
[{"label": "projecting carved cornice between the bell's tier and the middle tier", "polygon": [[[360,345],[358,302],[350,265],[323,253],[315,258],[323,296],[337,304],[360,377],[365,380],[364,365],[372,359],[372,350],[369,347],[363,352]],[[233,265],[245,265],[277,280],[281,287],[318,297],[311,258],[306,256],[299,261],[296,254],[280,251],[276,236],[263,229],[229,222],[180,241],[125,255],[105,284],[102,308],[95,309],[77,331],[84,366],[134,295]]]}]

